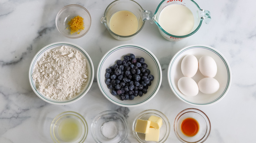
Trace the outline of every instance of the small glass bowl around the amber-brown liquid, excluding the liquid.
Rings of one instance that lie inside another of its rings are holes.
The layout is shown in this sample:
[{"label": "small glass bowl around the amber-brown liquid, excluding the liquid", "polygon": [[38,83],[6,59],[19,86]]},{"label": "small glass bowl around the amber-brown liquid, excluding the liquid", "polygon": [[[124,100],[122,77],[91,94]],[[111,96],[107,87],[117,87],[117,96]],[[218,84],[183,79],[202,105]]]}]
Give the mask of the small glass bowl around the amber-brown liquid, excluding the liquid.
[{"label": "small glass bowl around the amber-brown liquid, excluding the liquid", "polygon": [[[199,123],[199,130],[194,136],[186,136],[181,131],[181,122],[186,118],[194,118]],[[187,108],[181,111],[174,120],[174,132],[183,143],[203,143],[211,132],[211,122],[207,115],[196,108]]]}]

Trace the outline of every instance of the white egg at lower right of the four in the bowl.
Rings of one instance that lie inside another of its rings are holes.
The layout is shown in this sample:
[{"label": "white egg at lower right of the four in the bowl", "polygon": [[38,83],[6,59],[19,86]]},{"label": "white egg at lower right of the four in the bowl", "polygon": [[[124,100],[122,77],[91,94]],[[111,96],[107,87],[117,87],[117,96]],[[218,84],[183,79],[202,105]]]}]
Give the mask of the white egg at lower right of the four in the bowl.
[{"label": "white egg at lower right of the four in the bowl", "polygon": [[198,88],[204,94],[212,94],[219,90],[219,82],[212,77],[205,77],[198,82]]}]

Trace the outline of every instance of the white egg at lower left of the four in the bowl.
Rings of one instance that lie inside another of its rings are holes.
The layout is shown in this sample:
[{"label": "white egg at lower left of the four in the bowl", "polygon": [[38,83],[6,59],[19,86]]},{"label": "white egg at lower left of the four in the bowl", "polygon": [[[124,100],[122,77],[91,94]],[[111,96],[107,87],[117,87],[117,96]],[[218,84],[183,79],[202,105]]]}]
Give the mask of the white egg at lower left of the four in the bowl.
[{"label": "white egg at lower left of the four in the bowl", "polygon": [[196,96],[199,92],[197,83],[190,77],[181,77],[178,81],[178,88],[187,96]]}]

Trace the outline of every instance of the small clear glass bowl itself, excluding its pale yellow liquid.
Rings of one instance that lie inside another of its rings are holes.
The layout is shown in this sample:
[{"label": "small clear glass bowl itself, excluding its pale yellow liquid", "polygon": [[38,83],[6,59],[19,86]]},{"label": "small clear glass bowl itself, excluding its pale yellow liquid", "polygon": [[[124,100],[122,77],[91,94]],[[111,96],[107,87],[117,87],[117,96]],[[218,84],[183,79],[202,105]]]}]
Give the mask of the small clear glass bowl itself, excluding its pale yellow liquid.
[{"label": "small clear glass bowl itself, excluding its pale yellow liquid", "polygon": [[[65,141],[63,140],[63,137],[61,137],[61,134],[59,134],[59,128],[61,128],[62,121],[65,120],[70,120],[70,124],[75,124],[78,125],[79,132],[78,134],[81,134],[80,136],[78,135],[74,140],[71,141]],[[59,115],[57,115],[52,123],[51,123],[51,137],[55,143],[83,143],[87,137],[88,134],[88,125],[86,120],[82,115],[79,113],[76,113],[74,111],[66,111],[62,112]]]}]

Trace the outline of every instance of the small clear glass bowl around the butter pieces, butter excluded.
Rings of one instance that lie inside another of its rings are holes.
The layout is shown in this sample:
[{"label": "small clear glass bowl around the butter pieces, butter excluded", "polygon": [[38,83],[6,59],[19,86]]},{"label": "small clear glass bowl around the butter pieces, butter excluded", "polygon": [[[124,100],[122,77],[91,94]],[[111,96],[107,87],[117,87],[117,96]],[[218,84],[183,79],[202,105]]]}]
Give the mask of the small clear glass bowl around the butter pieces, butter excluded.
[{"label": "small clear glass bowl around the butter pieces, butter excluded", "polygon": [[144,110],[140,112],[133,121],[133,135],[139,143],[151,143],[152,141],[145,141],[145,134],[135,132],[137,119],[148,120],[148,118],[152,115],[162,118],[163,124],[160,128],[160,136],[158,143],[165,142],[170,134],[171,127],[169,120],[162,112],[154,109]]}]

